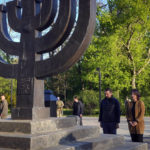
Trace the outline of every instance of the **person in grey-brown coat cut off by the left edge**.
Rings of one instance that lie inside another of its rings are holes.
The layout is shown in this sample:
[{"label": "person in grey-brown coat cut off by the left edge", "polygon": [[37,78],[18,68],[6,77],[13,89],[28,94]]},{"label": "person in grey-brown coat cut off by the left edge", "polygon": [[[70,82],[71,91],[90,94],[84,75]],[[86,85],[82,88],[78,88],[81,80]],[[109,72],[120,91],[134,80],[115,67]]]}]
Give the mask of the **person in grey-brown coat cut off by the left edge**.
[{"label": "person in grey-brown coat cut off by the left edge", "polygon": [[6,119],[8,116],[8,103],[4,95],[1,96],[0,110],[1,119]]}]

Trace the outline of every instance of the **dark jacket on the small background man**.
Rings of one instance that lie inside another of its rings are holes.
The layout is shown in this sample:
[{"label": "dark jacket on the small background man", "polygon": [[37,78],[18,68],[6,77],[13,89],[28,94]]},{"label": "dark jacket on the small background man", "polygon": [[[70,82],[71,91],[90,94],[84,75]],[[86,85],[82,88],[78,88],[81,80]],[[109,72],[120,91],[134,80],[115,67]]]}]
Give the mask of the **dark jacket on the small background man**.
[{"label": "dark jacket on the small background man", "polygon": [[73,115],[80,116],[83,114],[83,104],[81,101],[73,103]]}]

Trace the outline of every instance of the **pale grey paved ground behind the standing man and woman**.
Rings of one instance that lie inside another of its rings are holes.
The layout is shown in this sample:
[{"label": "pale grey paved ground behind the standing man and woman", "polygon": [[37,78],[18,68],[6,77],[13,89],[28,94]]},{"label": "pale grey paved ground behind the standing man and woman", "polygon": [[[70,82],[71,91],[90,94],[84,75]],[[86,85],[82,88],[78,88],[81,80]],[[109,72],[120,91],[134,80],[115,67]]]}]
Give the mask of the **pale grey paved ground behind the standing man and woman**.
[{"label": "pale grey paved ground behind the standing man and woman", "polygon": [[[83,117],[83,124],[89,125],[89,126],[99,126],[98,118],[96,117]],[[102,129],[101,129],[102,133]],[[119,135],[125,136],[125,139],[127,141],[131,141],[129,131],[128,131],[128,125],[126,122],[125,117],[121,118],[120,128],[117,132]],[[144,133],[144,142],[149,144],[149,150],[150,150],[150,117],[145,118],[145,133]]]}]

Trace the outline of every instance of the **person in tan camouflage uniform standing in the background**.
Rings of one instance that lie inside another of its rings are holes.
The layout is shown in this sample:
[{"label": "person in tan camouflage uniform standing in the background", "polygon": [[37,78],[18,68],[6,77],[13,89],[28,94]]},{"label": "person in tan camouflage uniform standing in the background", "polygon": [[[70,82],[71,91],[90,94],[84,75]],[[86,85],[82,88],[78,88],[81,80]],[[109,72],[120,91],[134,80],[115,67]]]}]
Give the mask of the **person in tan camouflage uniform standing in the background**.
[{"label": "person in tan camouflage uniform standing in the background", "polygon": [[64,102],[60,100],[60,97],[57,97],[56,105],[57,105],[57,117],[62,117]]}]

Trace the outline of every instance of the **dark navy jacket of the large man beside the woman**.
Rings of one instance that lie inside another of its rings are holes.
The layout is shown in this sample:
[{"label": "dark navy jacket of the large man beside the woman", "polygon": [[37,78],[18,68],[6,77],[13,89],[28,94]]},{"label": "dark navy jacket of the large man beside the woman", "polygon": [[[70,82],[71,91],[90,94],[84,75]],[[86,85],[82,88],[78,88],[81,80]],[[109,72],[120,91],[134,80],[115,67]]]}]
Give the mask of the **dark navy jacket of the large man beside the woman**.
[{"label": "dark navy jacket of the large man beside the woman", "polygon": [[120,123],[120,104],[117,99],[105,98],[100,105],[100,122]]}]

